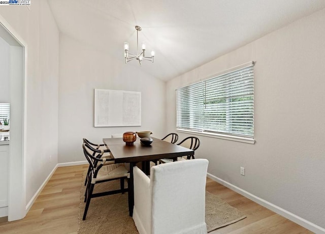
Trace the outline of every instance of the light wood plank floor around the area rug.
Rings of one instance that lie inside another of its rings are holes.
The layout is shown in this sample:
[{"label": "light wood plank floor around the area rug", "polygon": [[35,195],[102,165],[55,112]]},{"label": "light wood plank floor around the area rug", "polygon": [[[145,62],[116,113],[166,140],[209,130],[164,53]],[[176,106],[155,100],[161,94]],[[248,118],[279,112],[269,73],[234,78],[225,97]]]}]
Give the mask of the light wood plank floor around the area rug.
[{"label": "light wood plank floor around the area rug", "polygon": [[[0,233],[77,233],[81,178],[87,168],[87,165],[57,168],[24,219],[8,222],[7,218],[0,218]],[[207,179],[207,191],[247,216],[211,234],[312,233],[211,179]]]}]

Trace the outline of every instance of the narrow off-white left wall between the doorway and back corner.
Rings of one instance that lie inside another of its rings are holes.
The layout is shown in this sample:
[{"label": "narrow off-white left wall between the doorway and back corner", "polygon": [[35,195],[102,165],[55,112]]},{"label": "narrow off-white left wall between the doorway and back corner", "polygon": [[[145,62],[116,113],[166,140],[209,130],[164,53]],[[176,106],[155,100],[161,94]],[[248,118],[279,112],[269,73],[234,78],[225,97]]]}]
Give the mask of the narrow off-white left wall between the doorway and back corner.
[{"label": "narrow off-white left wall between the doorway and back corner", "polygon": [[27,204],[57,164],[59,33],[47,1],[1,6],[0,14],[28,47]]}]

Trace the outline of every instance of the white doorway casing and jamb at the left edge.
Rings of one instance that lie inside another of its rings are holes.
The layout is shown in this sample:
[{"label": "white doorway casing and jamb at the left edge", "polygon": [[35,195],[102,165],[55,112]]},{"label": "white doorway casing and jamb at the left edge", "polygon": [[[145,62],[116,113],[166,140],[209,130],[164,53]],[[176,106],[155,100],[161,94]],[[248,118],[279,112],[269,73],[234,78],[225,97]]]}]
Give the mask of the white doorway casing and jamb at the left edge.
[{"label": "white doorway casing and jamb at the left edge", "polygon": [[8,221],[26,215],[26,74],[27,44],[0,15],[0,37],[9,44],[9,188]]}]

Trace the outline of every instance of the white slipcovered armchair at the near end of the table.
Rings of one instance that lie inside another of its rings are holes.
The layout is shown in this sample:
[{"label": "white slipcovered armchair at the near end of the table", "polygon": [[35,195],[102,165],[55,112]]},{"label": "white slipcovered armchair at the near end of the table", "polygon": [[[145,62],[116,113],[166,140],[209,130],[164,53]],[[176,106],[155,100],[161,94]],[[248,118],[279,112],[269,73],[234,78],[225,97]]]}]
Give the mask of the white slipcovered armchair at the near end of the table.
[{"label": "white slipcovered armchair at the near end of the table", "polygon": [[134,167],[133,219],[140,234],[207,233],[205,185],[208,160]]}]

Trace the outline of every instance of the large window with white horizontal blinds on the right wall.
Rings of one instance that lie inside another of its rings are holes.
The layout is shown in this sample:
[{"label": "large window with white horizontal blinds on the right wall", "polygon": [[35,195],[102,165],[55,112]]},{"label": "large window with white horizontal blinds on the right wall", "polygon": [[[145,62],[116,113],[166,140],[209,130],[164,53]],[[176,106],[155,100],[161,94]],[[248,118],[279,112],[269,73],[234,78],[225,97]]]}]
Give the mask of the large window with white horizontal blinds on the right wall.
[{"label": "large window with white horizontal blinds on the right wall", "polygon": [[253,62],[176,90],[177,129],[254,136]]}]

